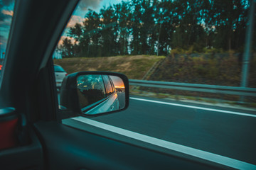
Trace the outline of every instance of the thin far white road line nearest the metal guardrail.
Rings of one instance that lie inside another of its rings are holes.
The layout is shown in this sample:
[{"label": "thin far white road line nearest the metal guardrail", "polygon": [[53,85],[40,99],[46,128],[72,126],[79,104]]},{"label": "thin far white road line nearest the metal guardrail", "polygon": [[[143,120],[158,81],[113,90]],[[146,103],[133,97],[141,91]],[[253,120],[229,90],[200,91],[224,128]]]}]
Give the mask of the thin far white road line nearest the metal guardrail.
[{"label": "thin far white road line nearest the metal guardrail", "polygon": [[172,106],[181,106],[181,107],[185,107],[185,108],[196,108],[196,109],[201,109],[201,110],[206,110],[206,111],[215,111],[215,112],[228,113],[228,114],[233,114],[233,115],[245,115],[245,116],[250,116],[250,117],[256,118],[256,115],[252,115],[252,114],[248,114],[248,113],[225,111],[225,110],[220,110],[220,109],[215,109],[215,108],[203,108],[203,107],[198,107],[198,106],[189,106],[189,105],[183,105],[183,104],[168,103],[168,102],[164,102],[164,101],[153,101],[153,100],[148,100],[148,99],[143,99],[143,98],[130,97],[130,99],[137,100],[137,101],[147,101],[147,102],[152,102],[152,103],[166,104],[166,105],[172,105]]}]

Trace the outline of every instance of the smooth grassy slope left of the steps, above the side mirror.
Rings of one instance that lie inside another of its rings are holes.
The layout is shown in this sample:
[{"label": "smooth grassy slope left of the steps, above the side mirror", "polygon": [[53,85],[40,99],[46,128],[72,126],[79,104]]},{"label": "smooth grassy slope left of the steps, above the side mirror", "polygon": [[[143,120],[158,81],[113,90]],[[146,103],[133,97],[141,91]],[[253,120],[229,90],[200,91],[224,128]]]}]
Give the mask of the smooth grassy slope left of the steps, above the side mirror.
[{"label": "smooth grassy slope left of the steps, above the side mirror", "polygon": [[164,56],[135,55],[93,58],[65,58],[54,60],[68,74],[82,71],[108,71],[126,74],[129,79],[142,79],[146,72]]}]

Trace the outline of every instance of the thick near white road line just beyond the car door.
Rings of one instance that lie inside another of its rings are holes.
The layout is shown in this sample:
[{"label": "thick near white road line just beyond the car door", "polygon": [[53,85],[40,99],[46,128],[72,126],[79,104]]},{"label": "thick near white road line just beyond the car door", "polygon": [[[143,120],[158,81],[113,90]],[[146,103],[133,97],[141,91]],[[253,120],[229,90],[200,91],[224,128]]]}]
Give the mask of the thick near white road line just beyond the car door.
[{"label": "thick near white road line just beyond the car door", "polygon": [[198,157],[198,158],[201,158],[201,159],[205,159],[205,160],[208,160],[210,162],[215,162],[217,164],[222,164],[222,165],[225,165],[225,166],[229,166],[231,168],[251,169],[251,170],[255,169],[256,170],[256,165],[254,165],[254,164],[249,164],[247,162],[242,162],[242,161],[239,161],[237,159],[232,159],[232,158],[224,157],[224,156],[221,156],[221,155],[218,155],[218,154],[213,154],[213,153],[206,152],[206,151],[203,151],[203,150],[200,150],[200,149],[194,149],[192,147],[186,147],[186,146],[183,146],[183,145],[178,145],[176,143],[168,142],[166,140],[159,140],[155,137],[149,137],[147,135],[142,135],[142,134],[139,134],[137,132],[124,130],[122,128],[117,128],[115,126],[107,125],[105,123],[100,123],[100,122],[97,122],[95,120],[90,120],[90,119],[84,118],[82,116],[76,117],[76,118],[71,118],[71,119],[78,120],[79,122],[87,123],[88,125],[92,125],[92,126],[95,126],[97,128],[108,130],[110,132],[114,132],[114,133],[117,133],[119,135],[124,135],[124,136],[130,137],[130,138],[135,139],[135,140],[140,140],[142,142],[146,142],[146,143],[149,143],[151,145],[156,145],[156,146],[159,146],[159,147],[164,147],[166,149],[171,149],[171,150],[174,150],[176,152],[181,152],[183,154],[188,154],[188,155],[191,155],[193,157]]}]

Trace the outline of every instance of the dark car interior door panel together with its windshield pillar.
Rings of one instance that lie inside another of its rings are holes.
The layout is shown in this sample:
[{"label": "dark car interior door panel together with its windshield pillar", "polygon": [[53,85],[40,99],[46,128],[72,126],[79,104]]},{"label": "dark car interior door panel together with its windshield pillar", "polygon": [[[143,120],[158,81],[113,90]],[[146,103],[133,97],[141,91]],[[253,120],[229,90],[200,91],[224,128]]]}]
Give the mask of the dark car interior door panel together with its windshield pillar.
[{"label": "dark car interior door panel together with its windshield pillar", "polygon": [[51,57],[78,1],[22,2],[16,1],[0,92],[1,108],[16,109],[18,133],[28,140],[1,150],[3,169],[228,168],[105,130],[92,120],[63,119]]}]

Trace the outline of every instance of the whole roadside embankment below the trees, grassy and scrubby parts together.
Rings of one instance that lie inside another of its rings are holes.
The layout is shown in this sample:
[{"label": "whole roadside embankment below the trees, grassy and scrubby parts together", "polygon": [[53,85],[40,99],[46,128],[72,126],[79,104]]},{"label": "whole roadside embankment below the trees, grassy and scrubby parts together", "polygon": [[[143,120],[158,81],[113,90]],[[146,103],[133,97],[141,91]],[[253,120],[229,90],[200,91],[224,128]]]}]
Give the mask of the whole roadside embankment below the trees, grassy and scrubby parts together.
[{"label": "whole roadside embankment below the trees, grassy and scrubby parts together", "polygon": [[[54,60],[68,74],[109,71],[129,79],[146,79],[192,84],[240,86],[242,59],[238,54],[193,54],[162,56],[116,56]],[[256,87],[256,56],[250,62],[249,86]]]}]

